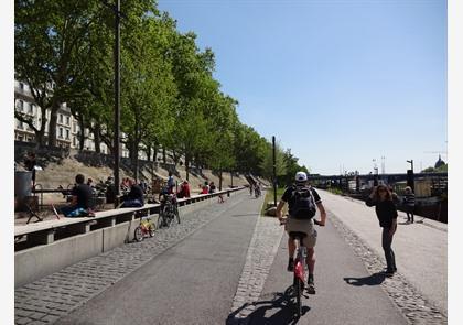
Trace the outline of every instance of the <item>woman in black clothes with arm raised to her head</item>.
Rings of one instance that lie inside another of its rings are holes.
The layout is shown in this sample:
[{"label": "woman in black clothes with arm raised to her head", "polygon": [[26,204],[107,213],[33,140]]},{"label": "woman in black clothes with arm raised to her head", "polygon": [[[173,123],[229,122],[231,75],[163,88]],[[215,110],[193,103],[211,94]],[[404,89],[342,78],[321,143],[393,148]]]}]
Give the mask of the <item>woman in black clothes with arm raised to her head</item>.
[{"label": "woman in black clothes with arm raised to her head", "polygon": [[385,185],[373,188],[366,201],[367,206],[375,206],[379,226],[383,227],[383,249],[385,251],[387,269],[385,274],[391,277],[396,271],[396,256],[391,245],[392,237],[397,230],[397,209],[392,202],[392,194]]}]

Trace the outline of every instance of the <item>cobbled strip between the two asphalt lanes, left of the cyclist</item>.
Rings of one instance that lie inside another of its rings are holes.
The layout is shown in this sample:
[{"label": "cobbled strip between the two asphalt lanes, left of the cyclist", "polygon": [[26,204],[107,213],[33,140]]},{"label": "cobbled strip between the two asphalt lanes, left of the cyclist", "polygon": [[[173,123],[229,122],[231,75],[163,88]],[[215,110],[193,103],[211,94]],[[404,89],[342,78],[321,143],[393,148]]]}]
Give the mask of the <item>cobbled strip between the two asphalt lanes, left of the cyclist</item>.
[{"label": "cobbled strip between the two asphalt lanes, left of the cyclist", "polygon": [[283,228],[272,217],[259,217],[257,220],[238,289],[233,300],[230,315],[234,316],[227,319],[227,324],[247,324],[249,322],[248,316],[256,308],[252,303],[258,301],[263,290],[284,232]]}]

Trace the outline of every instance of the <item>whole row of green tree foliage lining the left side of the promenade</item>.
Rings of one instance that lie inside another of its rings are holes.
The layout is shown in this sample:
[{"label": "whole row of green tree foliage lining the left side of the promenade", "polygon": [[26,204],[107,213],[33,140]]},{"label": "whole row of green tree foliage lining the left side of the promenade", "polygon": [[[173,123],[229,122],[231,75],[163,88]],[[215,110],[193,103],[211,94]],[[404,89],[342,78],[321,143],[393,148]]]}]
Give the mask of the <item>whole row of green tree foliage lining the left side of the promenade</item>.
[{"label": "whole row of green tree foliage lining the left side of the promenade", "polygon": [[[186,167],[271,178],[271,143],[239,121],[238,101],[213,76],[214,52],[201,51],[193,32],[179,32],[155,1],[122,1],[121,11],[120,121],[130,155],[137,160],[141,149],[163,148]],[[57,109],[66,102],[80,127],[114,150],[114,20],[100,0],[15,1],[15,78],[31,87],[43,117],[51,112],[50,144]],[[45,118],[40,126],[20,112],[15,118],[43,142]],[[281,182],[301,169],[279,145]]]}]

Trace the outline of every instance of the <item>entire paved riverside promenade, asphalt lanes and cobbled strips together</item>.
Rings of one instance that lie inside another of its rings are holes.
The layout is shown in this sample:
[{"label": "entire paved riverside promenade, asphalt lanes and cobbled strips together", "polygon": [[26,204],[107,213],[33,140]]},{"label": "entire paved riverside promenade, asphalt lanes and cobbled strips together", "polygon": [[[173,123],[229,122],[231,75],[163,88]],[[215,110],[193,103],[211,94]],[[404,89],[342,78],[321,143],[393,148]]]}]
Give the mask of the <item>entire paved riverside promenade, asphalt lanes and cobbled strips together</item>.
[{"label": "entire paved riverside promenade, asphalt lanes and cobbled strips together", "polygon": [[[399,227],[385,278],[380,228],[364,203],[320,191],[316,294],[293,313],[287,235],[246,191],[143,242],[15,289],[15,324],[446,324],[446,225]],[[416,220],[420,220],[416,217]]]}]

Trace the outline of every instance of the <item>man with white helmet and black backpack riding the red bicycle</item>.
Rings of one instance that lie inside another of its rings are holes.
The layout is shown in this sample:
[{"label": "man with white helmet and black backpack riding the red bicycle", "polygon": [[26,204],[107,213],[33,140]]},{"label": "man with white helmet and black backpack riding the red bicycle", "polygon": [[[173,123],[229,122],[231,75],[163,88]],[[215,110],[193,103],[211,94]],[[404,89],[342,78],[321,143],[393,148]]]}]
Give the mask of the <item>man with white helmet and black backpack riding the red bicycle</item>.
[{"label": "man with white helmet and black backpack riding the red bicycle", "polygon": [[[282,217],[281,212],[284,204],[289,205],[289,217]],[[321,219],[315,220],[314,216],[316,207],[320,209]],[[286,220],[284,230],[288,232],[288,271],[292,272],[294,268],[294,238],[290,232],[299,231],[306,234],[303,242],[308,249],[306,264],[309,267],[308,292],[315,294],[315,284],[313,272],[315,269],[315,243],[316,230],[314,224],[324,226],[326,221],[326,212],[322,204],[322,199],[316,191],[308,184],[308,175],[304,172],[295,173],[295,183],[288,187],[277,206],[277,217],[281,221]]]}]

